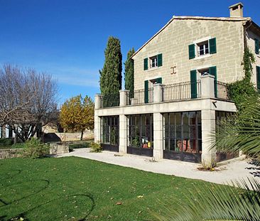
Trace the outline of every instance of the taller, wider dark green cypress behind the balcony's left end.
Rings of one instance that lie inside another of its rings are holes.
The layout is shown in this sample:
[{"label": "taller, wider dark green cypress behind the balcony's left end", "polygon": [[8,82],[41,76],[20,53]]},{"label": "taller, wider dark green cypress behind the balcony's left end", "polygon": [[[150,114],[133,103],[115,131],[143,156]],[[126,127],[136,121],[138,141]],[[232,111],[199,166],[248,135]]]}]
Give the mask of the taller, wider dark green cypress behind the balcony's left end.
[{"label": "taller, wider dark green cypress behind the balcony's left end", "polygon": [[112,36],[107,41],[107,48],[104,50],[104,66],[99,70],[99,85],[102,95],[115,95],[119,97],[122,80],[122,54],[118,38]]}]

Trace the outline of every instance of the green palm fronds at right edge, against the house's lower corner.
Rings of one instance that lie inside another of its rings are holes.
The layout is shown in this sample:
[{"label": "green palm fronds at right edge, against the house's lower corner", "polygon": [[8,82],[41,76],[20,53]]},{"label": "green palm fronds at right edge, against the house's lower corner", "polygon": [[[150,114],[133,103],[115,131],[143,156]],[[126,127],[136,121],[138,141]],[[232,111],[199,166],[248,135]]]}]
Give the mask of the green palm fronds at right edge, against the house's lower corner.
[{"label": "green palm fronds at right edge, against the house's lower corner", "polygon": [[260,155],[260,97],[252,96],[242,104],[242,110],[227,118],[212,134],[212,148],[222,152],[243,151]]}]

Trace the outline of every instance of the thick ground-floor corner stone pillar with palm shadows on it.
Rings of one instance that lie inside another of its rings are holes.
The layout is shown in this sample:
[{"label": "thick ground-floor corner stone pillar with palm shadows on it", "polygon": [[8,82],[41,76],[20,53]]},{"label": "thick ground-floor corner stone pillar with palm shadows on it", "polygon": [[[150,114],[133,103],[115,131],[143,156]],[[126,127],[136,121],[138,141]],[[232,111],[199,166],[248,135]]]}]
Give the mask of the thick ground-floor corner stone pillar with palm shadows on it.
[{"label": "thick ground-floor corner stone pillar with palm shadows on it", "polygon": [[210,149],[214,143],[212,136],[215,133],[215,110],[205,109],[201,111],[202,124],[202,165],[215,166],[216,150]]}]

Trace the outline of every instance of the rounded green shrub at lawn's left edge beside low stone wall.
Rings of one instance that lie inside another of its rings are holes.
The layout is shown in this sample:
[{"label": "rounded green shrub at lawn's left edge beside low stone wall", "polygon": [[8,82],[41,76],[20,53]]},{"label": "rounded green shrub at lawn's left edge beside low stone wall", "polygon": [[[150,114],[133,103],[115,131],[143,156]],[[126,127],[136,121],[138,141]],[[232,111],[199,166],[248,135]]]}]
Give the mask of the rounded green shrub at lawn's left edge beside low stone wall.
[{"label": "rounded green shrub at lawn's left edge beside low stone wall", "polygon": [[23,157],[29,158],[42,158],[50,153],[50,147],[48,144],[43,144],[40,140],[32,138],[26,141],[25,148],[22,151]]}]

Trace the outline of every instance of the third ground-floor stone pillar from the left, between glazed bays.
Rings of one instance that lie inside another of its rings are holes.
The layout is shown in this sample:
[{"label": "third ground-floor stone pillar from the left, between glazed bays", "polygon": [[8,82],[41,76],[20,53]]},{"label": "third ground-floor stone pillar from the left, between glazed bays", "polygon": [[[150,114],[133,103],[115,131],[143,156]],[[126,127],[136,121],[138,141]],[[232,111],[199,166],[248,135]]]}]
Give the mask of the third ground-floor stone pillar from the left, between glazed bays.
[{"label": "third ground-floor stone pillar from the left, between glazed bays", "polygon": [[156,160],[163,158],[163,115],[153,114],[153,157]]}]

